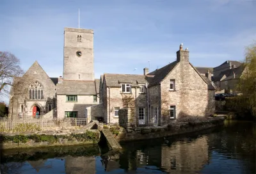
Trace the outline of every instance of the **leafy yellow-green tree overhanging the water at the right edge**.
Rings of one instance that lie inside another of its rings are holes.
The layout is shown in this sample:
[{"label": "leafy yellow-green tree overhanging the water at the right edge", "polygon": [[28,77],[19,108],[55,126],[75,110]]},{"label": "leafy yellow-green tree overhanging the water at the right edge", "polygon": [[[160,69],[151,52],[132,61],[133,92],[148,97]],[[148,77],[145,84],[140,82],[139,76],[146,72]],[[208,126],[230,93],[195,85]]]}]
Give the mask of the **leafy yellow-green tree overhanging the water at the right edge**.
[{"label": "leafy yellow-green tree overhanging the water at the right edge", "polygon": [[256,116],[256,43],[246,47],[245,56],[245,68],[238,89],[248,99],[252,115]]}]

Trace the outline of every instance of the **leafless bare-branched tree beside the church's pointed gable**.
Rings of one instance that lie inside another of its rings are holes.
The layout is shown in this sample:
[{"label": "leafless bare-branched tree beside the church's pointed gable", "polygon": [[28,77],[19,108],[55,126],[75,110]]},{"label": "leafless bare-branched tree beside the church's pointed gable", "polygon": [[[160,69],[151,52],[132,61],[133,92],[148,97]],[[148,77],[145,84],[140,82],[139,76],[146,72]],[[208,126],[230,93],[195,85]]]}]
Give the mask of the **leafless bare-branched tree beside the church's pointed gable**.
[{"label": "leafless bare-branched tree beside the church's pointed gable", "polygon": [[8,93],[8,86],[13,86],[13,78],[23,73],[18,58],[10,52],[0,51],[0,95]]}]

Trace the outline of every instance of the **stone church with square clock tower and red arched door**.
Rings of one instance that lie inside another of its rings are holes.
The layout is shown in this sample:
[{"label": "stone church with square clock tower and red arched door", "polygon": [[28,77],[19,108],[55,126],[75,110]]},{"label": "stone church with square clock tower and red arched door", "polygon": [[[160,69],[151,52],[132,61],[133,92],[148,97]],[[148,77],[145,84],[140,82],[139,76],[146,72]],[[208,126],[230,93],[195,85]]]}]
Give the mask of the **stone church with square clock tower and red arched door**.
[{"label": "stone church with square clock tower and red arched door", "polygon": [[35,61],[22,77],[13,79],[10,117],[91,115],[92,107],[99,104],[99,79],[94,79],[93,68],[93,30],[65,28],[63,57],[63,77],[49,77]]}]

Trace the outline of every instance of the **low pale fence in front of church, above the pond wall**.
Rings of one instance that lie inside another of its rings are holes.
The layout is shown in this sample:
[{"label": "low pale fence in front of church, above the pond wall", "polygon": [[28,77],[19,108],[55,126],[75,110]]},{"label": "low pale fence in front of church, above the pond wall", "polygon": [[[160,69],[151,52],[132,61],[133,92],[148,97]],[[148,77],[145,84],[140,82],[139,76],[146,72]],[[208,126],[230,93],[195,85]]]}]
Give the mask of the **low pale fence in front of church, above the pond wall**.
[{"label": "low pale fence in front of church, above the pond wall", "polygon": [[54,119],[20,119],[10,120],[8,118],[0,119],[1,129],[12,130],[20,124],[38,125],[44,127],[72,127],[72,126],[85,126],[87,125],[87,118],[54,118]]}]

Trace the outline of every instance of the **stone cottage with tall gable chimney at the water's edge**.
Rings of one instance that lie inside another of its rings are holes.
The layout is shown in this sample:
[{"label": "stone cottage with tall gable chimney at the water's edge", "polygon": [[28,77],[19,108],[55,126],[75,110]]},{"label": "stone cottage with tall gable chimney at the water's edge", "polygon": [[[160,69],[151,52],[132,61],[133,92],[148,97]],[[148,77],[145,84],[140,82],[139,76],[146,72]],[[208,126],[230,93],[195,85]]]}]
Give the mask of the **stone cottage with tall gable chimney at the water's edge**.
[{"label": "stone cottage with tall gable chimney at the water's edge", "polygon": [[[102,84],[104,122],[118,122],[119,110],[130,103],[136,125],[163,125],[180,116],[213,115],[211,81],[189,63],[189,51],[180,45],[177,60],[143,75],[104,74]],[[128,106],[129,107],[129,106]]]}]

